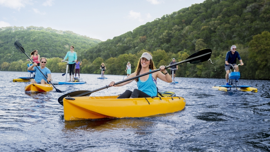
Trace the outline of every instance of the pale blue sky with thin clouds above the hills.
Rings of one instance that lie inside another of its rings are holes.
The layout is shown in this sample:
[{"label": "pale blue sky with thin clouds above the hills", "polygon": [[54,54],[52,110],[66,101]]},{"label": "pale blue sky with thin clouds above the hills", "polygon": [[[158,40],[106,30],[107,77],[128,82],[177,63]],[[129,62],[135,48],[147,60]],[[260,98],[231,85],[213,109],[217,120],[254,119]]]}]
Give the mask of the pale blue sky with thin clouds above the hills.
[{"label": "pale blue sky with thin clouds above the hills", "polygon": [[202,0],[0,0],[0,27],[43,26],[102,41]]}]

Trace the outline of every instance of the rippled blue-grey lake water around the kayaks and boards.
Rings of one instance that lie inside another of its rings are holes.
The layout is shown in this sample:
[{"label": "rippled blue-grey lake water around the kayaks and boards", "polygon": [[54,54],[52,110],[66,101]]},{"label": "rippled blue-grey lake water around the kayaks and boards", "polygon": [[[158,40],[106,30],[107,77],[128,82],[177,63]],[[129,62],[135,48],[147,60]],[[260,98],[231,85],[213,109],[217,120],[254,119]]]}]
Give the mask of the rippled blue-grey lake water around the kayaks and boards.
[{"label": "rippled blue-grey lake water around the kayaks and boards", "polygon": [[[62,73],[53,80],[64,81]],[[146,118],[64,121],[57,99],[68,92],[94,90],[123,75],[81,74],[86,84],[55,85],[65,91],[26,93],[28,83],[12,82],[27,72],[0,71],[0,151],[270,151],[270,81],[241,80],[257,93],[217,91],[225,79],[158,80],[159,91],[174,91],[186,108]],[[137,88],[135,82],[91,96],[110,96]]]}]

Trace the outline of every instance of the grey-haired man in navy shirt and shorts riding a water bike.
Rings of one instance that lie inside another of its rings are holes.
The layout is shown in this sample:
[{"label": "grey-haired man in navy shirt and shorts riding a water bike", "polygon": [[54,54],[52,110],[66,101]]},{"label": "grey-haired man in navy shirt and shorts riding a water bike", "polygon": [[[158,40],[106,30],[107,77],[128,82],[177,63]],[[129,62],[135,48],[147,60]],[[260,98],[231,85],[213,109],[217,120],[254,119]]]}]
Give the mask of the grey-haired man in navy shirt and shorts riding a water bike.
[{"label": "grey-haired man in navy shirt and shorts riding a water bike", "polygon": [[[227,52],[226,59],[225,59],[226,85],[229,85],[229,83],[228,83],[229,73],[230,73],[230,69],[233,69],[233,67],[229,64],[232,64],[234,67],[237,66],[236,65],[236,58],[238,58],[241,65],[244,65],[244,63],[240,57],[240,54],[236,51],[236,46],[233,45],[233,46],[231,46],[231,50],[229,52]],[[236,72],[239,71],[238,67],[235,68],[235,71]]]}]

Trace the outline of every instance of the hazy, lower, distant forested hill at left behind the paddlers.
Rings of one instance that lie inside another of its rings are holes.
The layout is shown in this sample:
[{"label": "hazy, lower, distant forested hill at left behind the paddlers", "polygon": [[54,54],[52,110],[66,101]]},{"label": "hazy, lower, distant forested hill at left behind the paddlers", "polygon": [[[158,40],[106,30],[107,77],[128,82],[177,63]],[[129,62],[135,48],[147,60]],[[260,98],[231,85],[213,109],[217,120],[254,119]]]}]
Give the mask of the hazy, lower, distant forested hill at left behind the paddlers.
[{"label": "hazy, lower, distant forested hill at left behind the paddlers", "polygon": [[33,50],[38,50],[40,57],[64,58],[70,45],[74,45],[80,58],[80,52],[89,49],[101,42],[100,40],[75,34],[71,31],[57,31],[52,28],[30,26],[0,28],[0,65],[3,62],[12,63],[20,59],[25,61],[27,57],[18,52],[14,42],[18,40],[28,55]]}]

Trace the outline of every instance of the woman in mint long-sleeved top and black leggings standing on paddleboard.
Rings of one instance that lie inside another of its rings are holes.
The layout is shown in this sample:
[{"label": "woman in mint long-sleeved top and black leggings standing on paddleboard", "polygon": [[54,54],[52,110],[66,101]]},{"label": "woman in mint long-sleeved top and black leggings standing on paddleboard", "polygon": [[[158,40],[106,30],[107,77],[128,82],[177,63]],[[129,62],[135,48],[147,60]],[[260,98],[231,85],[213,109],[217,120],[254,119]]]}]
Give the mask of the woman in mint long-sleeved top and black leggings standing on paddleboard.
[{"label": "woman in mint long-sleeved top and black leggings standing on paddleboard", "polygon": [[74,46],[70,46],[70,51],[67,52],[65,55],[65,58],[62,60],[62,62],[68,58],[68,68],[70,70],[70,80],[71,81],[71,73],[72,73],[72,81],[74,81],[74,68],[75,68],[75,62],[77,60],[77,53],[74,52]]}]

